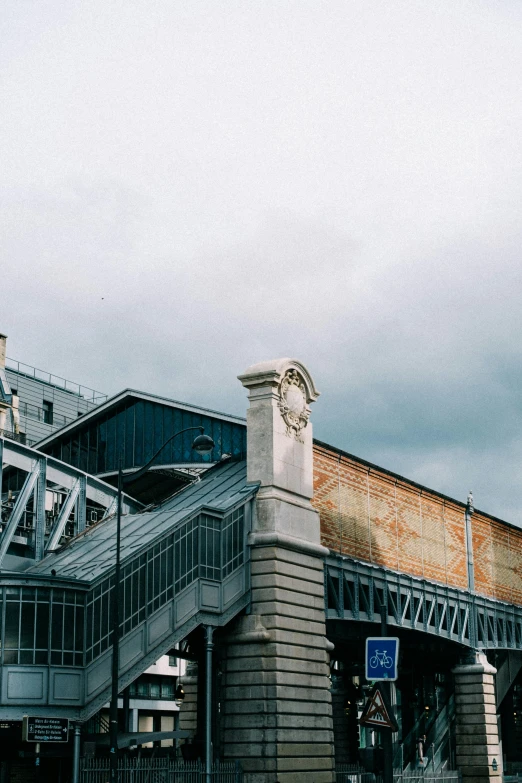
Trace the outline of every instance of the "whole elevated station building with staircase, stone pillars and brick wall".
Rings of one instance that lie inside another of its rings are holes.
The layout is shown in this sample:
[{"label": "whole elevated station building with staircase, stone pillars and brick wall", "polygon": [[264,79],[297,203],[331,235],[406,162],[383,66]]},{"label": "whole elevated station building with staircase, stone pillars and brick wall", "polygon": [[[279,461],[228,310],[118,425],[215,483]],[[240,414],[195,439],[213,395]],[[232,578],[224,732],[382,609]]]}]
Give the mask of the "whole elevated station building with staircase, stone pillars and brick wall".
[{"label": "whole elevated station building with staircase, stone pillars and brick wall", "polygon": [[[202,756],[239,761],[248,783],[332,783],[336,769],[377,763],[383,732],[359,718],[371,686],[365,640],[384,623],[400,639],[394,768],[422,761],[500,781],[503,765],[522,761],[522,531],[471,496],[446,497],[314,440],[318,391],[300,362],[254,365],[240,380],[246,420],[126,390],[40,440],[48,476],[66,465],[109,489],[81,522],[79,501],[63,519],[71,490],[47,487],[64,493],[50,550],[49,514],[40,549],[36,512],[25,549],[5,520],[0,719],[16,723],[30,708],[68,715],[85,734],[105,708],[110,487],[120,459],[130,473],[160,450],[125,488],[141,505],[128,501],[122,527],[121,693],[178,651],[189,662],[179,726]],[[207,457],[183,432],[198,427],[214,441]],[[16,502],[29,478],[21,452],[9,460],[3,497]],[[52,614],[49,640],[37,646],[36,619],[24,641],[29,589],[33,618],[39,591],[52,606],[74,594],[79,636],[53,647]]]}]

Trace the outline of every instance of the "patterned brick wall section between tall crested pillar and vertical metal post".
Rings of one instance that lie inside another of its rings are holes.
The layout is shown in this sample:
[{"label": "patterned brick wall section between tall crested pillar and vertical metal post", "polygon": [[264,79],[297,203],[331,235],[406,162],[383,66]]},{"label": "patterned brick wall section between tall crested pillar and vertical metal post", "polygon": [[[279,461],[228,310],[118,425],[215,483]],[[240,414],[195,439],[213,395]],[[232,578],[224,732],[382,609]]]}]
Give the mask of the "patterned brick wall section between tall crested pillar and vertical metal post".
[{"label": "patterned brick wall section between tall crested pillar and vertical metal post", "polygon": [[[318,444],[314,446],[313,504],[321,516],[321,543],[333,551],[453,587],[467,587],[462,505]],[[494,546],[491,532],[488,535],[489,539],[481,531],[483,548]],[[500,551],[501,545],[496,546]],[[500,556],[496,561],[500,564]],[[481,572],[481,584],[490,584],[488,578],[489,582]],[[522,603],[522,592],[520,598]]]}]

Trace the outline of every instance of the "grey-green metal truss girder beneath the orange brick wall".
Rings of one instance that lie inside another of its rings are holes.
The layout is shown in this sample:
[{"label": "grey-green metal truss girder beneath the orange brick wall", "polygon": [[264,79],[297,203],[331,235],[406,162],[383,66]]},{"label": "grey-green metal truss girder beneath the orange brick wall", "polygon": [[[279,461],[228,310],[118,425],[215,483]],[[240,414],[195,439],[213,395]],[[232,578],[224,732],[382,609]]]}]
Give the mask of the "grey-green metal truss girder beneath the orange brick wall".
[{"label": "grey-green metal truss girder beneath the orange brick wall", "polygon": [[522,650],[522,606],[358,560],[325,562],[327,619],[380,622],[424,631],[473,649]]}]

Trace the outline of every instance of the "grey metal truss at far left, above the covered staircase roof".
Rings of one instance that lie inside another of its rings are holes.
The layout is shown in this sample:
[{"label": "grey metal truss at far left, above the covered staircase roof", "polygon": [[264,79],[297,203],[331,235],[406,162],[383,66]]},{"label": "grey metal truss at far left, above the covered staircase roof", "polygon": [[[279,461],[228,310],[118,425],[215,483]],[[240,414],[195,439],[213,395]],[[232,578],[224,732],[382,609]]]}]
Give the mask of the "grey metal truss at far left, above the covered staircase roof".
[{"label": "grey metal truss at far left, above the covered staircase roof", "polygon": [[[72,535],[85,530],[87,507],[99,510],[105,518],[116,510],[117,490],[101,479],[83,473],[65,462],[13,440],[0,437],[0,488],[2,471],[15,468],[25,473],[22,488],[11,505],[2,506],[0,568],[21,520],[30,509],[30,545],[34,560],[41,560],[60,543],[66,525],[72,522]],[[56,513],[46,511],[46,500],[59,497]],[[142,505],[123,495],[122,512],[135,513]],[[98,521],[98,515],[97,519]],[[27,526],[24,532],[27,530]]]}]

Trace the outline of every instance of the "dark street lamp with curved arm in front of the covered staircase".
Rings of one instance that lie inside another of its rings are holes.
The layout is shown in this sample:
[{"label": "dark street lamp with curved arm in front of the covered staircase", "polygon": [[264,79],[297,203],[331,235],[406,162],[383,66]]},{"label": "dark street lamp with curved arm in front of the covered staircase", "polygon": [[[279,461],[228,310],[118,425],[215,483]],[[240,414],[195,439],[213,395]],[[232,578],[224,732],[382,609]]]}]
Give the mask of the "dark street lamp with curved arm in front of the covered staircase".
[{"label": "dark street lamp with curved arm in front of the covered staircase", "polygon": [[[194,438],[192,448],[198,454],[210,454],[214,448],[214,441],[210,435],[205,435],[203,427],[186,427],[184,430],[175,432],[165,443],[157,450],[154,456],[143,467],[134,470],[132,473],[123,473],[122,460],[118,466],[118,499],[116,514],[116,568],[114,571],[114,586],[112,590],[112,682],[111,682],[111,704],[110,704],[110,783],[118,781],[118,674],[120,669],[120,551],[121,551],[121,506],[123,485],[129,481],[143,476],[151,467],[158,454],[163,451],[174,438],[190,430],[199,430],[199,435]],[[184,694],[183,694],[184,695]]]}]

